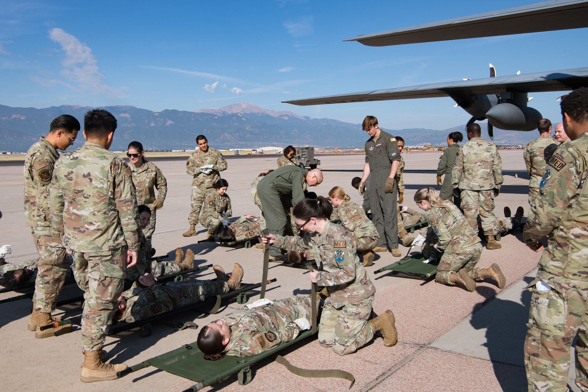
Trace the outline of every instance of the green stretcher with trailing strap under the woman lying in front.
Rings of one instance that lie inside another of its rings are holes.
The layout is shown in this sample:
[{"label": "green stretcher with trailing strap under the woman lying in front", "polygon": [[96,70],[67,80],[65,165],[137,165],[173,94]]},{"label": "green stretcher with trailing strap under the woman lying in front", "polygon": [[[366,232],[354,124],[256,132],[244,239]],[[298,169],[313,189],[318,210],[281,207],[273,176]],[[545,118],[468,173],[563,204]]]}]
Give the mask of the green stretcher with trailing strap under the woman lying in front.
[{"label": "green stretcher with trailing strap under the woman lying in front", "polygon": [[212,386],[218,383],[225,377],[231,376],[232,374],[238,373],[237,378],[239,385],[247,385],[252,379],[252,372],[250,366],[259,361],[273,357],[276,362],[285,366],[290,372],[302,377],[336,377],[344,378],[349,380],[353,387],[355,383],[355,377],[353,374],[343,370],[306,370],[293,366],[284,357],[278,354],[279,351],[286,347],[292,346],[292,344],[298,343],[308,337],[315,337],[312,331],[303,331],[296,339],[282,343],[279,346],[272,348],[272,350],[263,351],[263,353],[257,354],[250,357],[232,357],[224,356],[218,361],[205,360],[202,352],[198,349],[196,342],[190,344],[184,344],[176,350],[169,351],[169,353],[162,354],[161,356],[153,357],[142,363],[136,364],[126,368],[123,371],[119,371],[117,376],[124,377],[127,374],[131,374],[135,371],[143,368],[153,366],[158,369],[164,370],[168,373],[175,374],[188,380],[195,381],[192,387],[186,389],[183,392],[188,391],[199,391],[204,387]]}]

